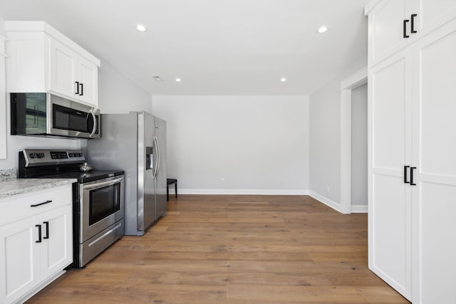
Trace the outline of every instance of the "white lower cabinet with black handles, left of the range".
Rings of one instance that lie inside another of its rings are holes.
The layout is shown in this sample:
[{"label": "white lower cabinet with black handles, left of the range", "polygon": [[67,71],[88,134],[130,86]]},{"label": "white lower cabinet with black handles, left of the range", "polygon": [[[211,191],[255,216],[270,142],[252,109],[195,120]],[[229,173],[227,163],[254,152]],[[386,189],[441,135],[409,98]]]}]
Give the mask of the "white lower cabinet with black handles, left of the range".
[{"label": "white lower cabinet with black handles, left of the range", "polygon": [[24,302],[73,262],[71,184],[34,193],[0,201],[12,219],[0,221],[0,303]]}]

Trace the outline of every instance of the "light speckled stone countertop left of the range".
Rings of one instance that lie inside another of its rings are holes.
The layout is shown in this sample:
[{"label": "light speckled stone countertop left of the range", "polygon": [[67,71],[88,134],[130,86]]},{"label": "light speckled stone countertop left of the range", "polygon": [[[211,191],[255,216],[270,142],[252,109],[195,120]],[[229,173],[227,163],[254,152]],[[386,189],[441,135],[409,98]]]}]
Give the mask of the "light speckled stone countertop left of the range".
[{"label": "light speckled stone countertop left of the range", "polygon": [[78,179],[8,179],[0,182],[0,199],[32,191],[73,184]]}]

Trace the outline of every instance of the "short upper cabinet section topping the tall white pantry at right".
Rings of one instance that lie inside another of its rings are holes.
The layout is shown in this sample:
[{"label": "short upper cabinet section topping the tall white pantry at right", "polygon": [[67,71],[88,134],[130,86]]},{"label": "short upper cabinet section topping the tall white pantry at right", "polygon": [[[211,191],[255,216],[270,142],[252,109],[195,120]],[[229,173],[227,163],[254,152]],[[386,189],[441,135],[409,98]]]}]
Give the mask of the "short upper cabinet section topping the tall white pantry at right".
[{"label": "short upper cabinet section topping the tall white pantry at right", "polygon": [[373,0],[369,16],[369,66],[456,17],[456,0]]}]

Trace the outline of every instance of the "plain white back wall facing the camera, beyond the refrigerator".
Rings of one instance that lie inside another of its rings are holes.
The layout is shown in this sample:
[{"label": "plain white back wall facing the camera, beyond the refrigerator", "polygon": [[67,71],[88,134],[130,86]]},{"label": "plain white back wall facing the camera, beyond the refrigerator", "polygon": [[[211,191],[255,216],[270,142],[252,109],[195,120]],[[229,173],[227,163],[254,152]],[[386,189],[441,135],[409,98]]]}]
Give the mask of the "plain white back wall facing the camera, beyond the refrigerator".
[{"label": "plain white back wall facing the camera, beyond the refrigerator", "polygon": [[307,194],[307,96],[153,96],[180,193]]}]

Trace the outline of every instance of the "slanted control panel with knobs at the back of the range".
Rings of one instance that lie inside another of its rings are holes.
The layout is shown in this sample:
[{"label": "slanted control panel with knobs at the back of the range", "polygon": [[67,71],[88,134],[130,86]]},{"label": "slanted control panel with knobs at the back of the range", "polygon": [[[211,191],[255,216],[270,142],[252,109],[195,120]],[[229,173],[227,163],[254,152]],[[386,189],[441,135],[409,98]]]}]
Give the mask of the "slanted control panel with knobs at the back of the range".
[{"label": "slanted control panel with knobs at the back of the range", "polygon": [[84,152],[81,150],[24,149],[19,153],[22,153],[26,167],[48,164],[76,164],[86,161]]}]

